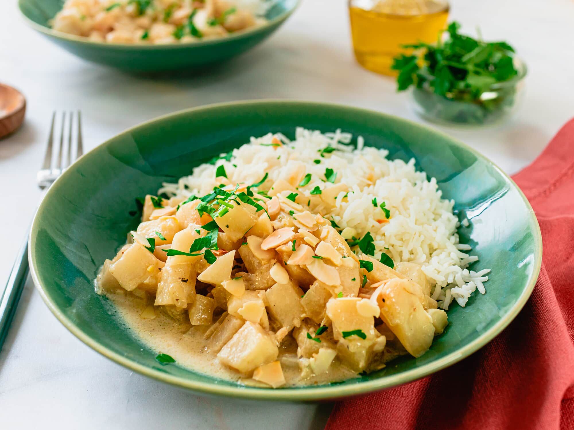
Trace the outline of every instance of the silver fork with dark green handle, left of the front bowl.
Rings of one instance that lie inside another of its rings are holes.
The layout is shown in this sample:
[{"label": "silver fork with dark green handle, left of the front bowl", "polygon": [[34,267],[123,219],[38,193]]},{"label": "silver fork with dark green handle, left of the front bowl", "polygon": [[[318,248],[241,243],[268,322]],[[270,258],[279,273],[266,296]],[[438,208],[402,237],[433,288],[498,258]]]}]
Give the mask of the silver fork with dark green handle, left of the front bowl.
[{"label": "silver fork with dark green handle, left of the front bowl", "polygon": [[[76,138],[73,136],[73,124],[77,123]],[[64,170],[66,170],[76,159],[83,154],[82,144],[82,114],[77,111],[76,118],[73,112],[63,112],[61,114],[61,130],[60,138],[56,140],[59,142],[58,153],[53,161],[52,153],[54,146],[54,128],[56,124],[56,112],[52,114],[52,125],[50,126],[50,134],[48,136],[48,146],[46,147],[46,155],[42,169],[38,171],[36,180],[38,187],[42,191],[47,190],[52,185],[56,178],[59,177]],[[68,131],[68,139],[65,139],[65,130]],[[67,143],[67,144],[65,144]],[[75,148],[75,151],[72,149]],[[67,154],[64,158],[64,150]],[[42,194],[42,198],[44,194]],[[18,252],[18,257],[14,261],[14,265],[8,277],[6,288],[0,298],[0,351],[6,339],[10,323],[16,313],[18,301],[24,290],[26,278],[28,277],[28,235],[26,240]]]}]

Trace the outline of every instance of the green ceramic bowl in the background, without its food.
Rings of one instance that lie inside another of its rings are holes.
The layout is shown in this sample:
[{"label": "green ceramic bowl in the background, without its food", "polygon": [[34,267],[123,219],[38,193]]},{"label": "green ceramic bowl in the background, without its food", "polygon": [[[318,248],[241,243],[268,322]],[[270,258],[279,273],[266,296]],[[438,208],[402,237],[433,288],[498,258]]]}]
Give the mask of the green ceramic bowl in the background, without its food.
[{"label": "green ceramic bowl in the background, without its food", "polygon": [[170,45],[127,45],[92,42],[85,37],[56,32],[48,21],[64,0],[18,0],[20,11],[33,29],[84,60],[129,72],[194,71],[227,60],[253,48],[270,36],[296,9],[300,0],[273,0],[265,25],[229,37]]}]

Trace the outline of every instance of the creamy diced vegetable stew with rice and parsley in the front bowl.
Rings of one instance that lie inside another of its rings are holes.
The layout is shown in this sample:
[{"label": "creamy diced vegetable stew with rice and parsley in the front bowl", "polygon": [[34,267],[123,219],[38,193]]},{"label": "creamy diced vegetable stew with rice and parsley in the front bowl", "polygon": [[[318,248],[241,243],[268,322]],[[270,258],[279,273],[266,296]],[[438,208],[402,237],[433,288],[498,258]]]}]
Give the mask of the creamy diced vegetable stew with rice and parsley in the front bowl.
[{"label": "creamy diced vegetable stew with rice and parsley in the front bowl", "polygon": [[146,196],[96,291],[162,365],[245,384],[420,357],[488,270],[466,268],[478,257],[436,179],[387,154],[339,130],[251,138]]}]

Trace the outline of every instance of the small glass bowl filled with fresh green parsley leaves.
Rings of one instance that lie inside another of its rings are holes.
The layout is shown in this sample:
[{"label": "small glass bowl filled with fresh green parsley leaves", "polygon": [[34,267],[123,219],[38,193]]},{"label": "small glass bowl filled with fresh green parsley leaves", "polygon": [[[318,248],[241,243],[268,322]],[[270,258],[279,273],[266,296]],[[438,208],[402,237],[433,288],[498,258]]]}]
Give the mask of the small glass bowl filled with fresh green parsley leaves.
[{"label": "small glass bowl filled with fresh green parsley leaves", "polygon": [[410,55],[394,58],[398,91],[414,87],[425,118],[449,123],[483,124],[505,116],[516,103],[526,73],[506,42],[485,42],[449,24],[444,41],[405,45]]}]

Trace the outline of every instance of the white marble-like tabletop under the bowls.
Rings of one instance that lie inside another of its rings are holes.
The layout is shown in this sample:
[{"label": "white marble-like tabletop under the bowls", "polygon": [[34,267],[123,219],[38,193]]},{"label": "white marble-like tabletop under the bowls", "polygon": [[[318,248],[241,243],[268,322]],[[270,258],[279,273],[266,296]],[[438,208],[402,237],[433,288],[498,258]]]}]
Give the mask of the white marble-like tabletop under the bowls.
[{"label": "white marble-like tabletop under the bowls", "polygon": [[[0,0],[0,81],[25,93],[25,126],[0,141],[0,289],[33,216],[53,110],[81,109],[87,149],[183,108],[259,98],[333,101],[418,120],[392,80],[352,57],[346,2],[304,0],[262,45],[200,77],[134,77],[88,64],[26,28]],[[515,173],[574,116],[572,0],[452,0],[452,18],[504,39],[529,66],[526,97],[501,126],[448,130]],[[331,405],[199,397],[109,361],[68,333],[29,280],[0,353],[0,428],[322,428]]]}]

